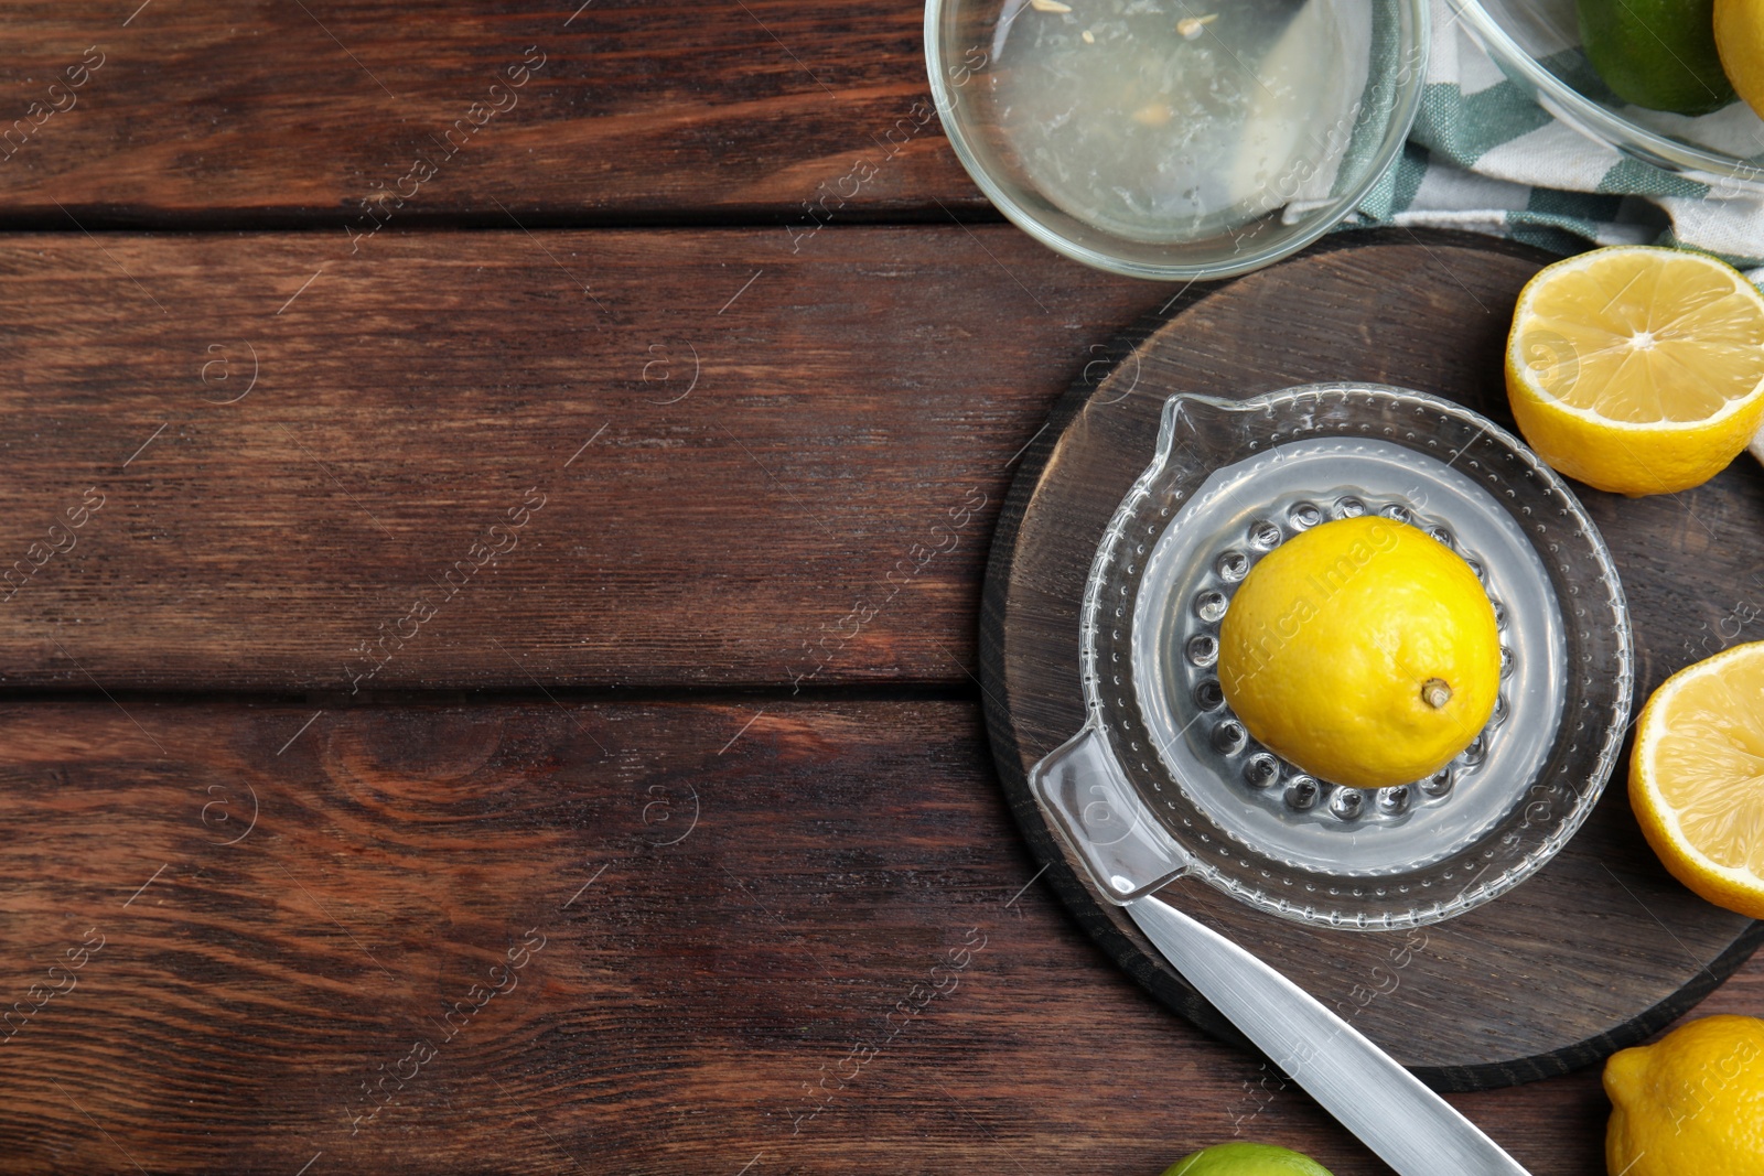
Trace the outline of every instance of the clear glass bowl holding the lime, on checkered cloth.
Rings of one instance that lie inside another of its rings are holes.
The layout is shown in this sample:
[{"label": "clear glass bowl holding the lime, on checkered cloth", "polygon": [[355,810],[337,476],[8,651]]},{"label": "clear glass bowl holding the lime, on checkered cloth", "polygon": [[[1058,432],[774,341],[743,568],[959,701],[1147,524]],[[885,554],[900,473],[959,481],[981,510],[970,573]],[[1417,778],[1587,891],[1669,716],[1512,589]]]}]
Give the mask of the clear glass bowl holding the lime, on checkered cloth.
[{"label": "clear glass bowl holding the lime, on checkered cloth", "polygon": [[1450,7],[1501,72],[1581,134],[1708,183],[1716,196],[1764,194],[1764,120],[1741,100],[1695,118],[1625,102],[1581,51],[1575,0],[1450,0]]}]

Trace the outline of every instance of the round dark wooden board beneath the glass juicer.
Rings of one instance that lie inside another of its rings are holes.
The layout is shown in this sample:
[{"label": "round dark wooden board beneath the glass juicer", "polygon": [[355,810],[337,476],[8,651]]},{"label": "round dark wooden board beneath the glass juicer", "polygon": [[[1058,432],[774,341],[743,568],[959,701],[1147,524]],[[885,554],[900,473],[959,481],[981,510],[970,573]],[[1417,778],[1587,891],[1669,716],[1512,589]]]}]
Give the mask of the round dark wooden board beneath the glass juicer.
[{"label": "round dark wooden board beneath the glass juicer", "polygon": [[[1187,289],[1110,347],[1030,444],[986,577],[986,723],[1016,818],[1078,922],[1161,1001],[1242,1040],[1078,880],[1025,778],[1078,732],[1078,607],[1097,540],[1152,457],[1175,393],[1251,397],[1312,381],[1439,393],[1514,428],[1501,349],[1521,286],[1552,257],[1489,238],[1379,231]],[[1764,471],[1741,457],[1671,497],[1575,492],[1616,557],[1635,619],[1637,702],[1736,635],[1764,599]],[[1593,816],[1510,894],[1422,931],[1325,931],[1182,880],[1162,897],[1249,947],[1439,1090],[1561,1074],[1658,1031],[1738,968],[1764,924],[1709,906],[1655,860],[1623,762]]]}]

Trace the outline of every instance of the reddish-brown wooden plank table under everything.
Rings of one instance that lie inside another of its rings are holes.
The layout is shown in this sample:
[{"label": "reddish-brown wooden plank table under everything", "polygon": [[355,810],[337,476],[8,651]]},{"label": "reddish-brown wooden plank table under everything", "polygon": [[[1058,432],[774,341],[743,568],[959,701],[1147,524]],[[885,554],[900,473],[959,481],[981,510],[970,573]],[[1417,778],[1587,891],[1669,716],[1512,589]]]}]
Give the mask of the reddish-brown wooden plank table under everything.
[{"label": "reddish-brown wooden plank table under everything", "polygon": [[[919,23],[5,5],[4,1171],[1387,1171],[1000,799],[998,501],[1173,291],[998,222]],[[1593,1070],[1452,1100],[1602,1171]]]}]

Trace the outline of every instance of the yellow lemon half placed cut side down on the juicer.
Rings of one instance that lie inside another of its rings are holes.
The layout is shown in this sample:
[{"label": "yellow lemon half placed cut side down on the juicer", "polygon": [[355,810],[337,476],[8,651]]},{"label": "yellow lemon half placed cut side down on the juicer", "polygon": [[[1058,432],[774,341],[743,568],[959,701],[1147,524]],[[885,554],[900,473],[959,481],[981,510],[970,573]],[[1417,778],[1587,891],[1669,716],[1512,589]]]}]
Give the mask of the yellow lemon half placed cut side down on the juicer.
[{"label": "yellow lemon half placed cut side down on the juicer", "polygon": [[1244,726],[1349,788],[1445,767],[1494,712],[1494,605],[1455,552],[1390,518],[1341,518],[1258,562],[1219,626],[1219,686]]}]

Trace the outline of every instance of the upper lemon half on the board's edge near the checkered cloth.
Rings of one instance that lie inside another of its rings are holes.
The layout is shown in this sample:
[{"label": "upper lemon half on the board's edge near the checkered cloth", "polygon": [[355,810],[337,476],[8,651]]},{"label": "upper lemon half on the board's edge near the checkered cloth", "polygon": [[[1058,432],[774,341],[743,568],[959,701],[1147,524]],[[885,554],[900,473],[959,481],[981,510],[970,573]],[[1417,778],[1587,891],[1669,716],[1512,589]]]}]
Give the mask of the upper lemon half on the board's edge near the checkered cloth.
[{"label": "upper lemon half on the board's edge near the checkered cloth", "polygon": [[1764,418],[1764,294],[1676,249],[1558,261],[1519,294],[1506,395],[1519,432],[1570,478],[1632,497],[1702,485]]}]

